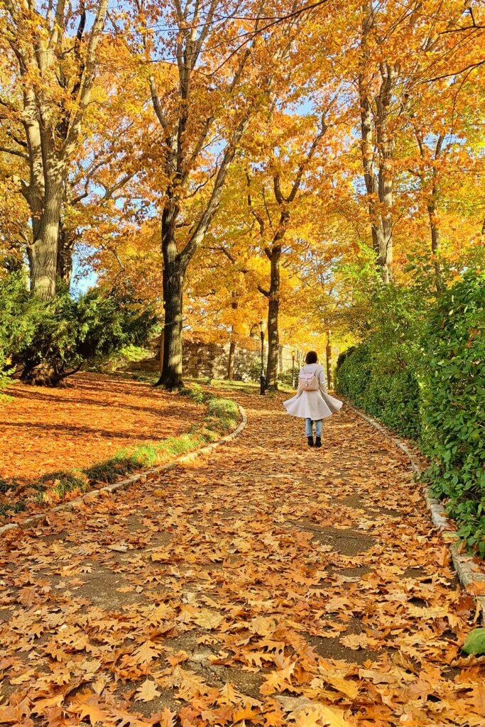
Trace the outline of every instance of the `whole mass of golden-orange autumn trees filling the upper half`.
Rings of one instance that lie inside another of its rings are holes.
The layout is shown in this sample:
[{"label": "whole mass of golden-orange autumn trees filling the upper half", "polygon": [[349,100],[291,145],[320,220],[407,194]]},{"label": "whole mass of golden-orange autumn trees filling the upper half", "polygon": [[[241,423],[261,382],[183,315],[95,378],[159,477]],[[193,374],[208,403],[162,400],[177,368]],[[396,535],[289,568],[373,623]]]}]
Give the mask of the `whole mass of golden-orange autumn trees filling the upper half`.
[{"label": "whole mass of golden-orange autumn trees filling the upper half", "polygon": [[1,0],[0,26],[1,269],[48,300],[74,254],[153,303],[161,385],[184,326],[265,318],[276,386],[279,343],[361,336],[372,270],[439,294],[483,242],[481,2]]}]

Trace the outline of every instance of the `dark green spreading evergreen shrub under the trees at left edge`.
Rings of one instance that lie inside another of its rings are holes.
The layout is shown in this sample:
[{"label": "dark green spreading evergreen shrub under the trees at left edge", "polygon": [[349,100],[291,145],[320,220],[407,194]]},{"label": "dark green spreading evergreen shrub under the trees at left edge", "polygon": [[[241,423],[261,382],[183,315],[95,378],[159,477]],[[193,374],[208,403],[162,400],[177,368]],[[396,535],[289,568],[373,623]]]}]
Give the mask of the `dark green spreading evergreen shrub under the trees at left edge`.
[{"label": "dark green spreading evergreen shrub under the trees at left edge", "polygon": [[144,343],[156,327],[151,310],[101,289],[76,300],[60,286],[53,300],[43,302],[26,289],[20,273],[0,280],[0,311],[3,377],[10,358],[23,380],[51,386],[85,361]]}]

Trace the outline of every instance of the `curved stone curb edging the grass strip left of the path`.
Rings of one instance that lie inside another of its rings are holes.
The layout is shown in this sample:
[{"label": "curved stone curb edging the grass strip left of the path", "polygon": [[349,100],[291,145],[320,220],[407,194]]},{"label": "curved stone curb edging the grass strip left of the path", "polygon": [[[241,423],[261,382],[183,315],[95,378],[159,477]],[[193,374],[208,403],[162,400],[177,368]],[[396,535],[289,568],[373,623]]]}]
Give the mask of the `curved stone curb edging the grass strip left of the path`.
[{"label": "curved stone curb edging the grass strip left of the path", "polygon": [[173,459],[172,462],[167,462],[166,465],[160,465],[160,467],[153,467],[151,470],[143,470],[142,472],[137,473],[136,475],[131,475],[130,477],[127,477],[125,480],[121,480],[119,482],[114,482],[111,485],[106,485],[105,487],[101,487],[97,490],[90,490],[89,492],[86,492],[84,495],[81,495],[81,497],[76,497],[76,499],[70,500],[69,502],[63,503],[63,505],[57,505],[57,507],[50,507],[49,510],[45,513],[40,513],[39,515],[32,515],[31,518],[27,518],[22,523],[9,523],[7,525],[4,525],[0,528],[0,535],[6,533],[9,530],[20,530],[25,529],[25,527],[36,525],[36,523],[41,522],[44,520],[44,518],[49,515],[49,513],[59,513],[61,511],[67,511],[70,512],[72,510],[75,510],[77,505],[80,505],[81,502],[84,502],[85,500],[89,501],[89,499],[95,499],[96,497],[100,497],[100,494],[102,492],[114,492],[116,490],[125,489],[129,487],[129,485],[132,485],[134,482],[137,482],[139,480],[143,480],[147,477],[147,475],[155,475],[159,473],[169,472],[170,470],[175,470],[175,467],[178,465],[183,465],[185,462],[193,462],[194,459],[197,459],[201,456],[201,454],[209,454],[213,449],[216,449],[216,447],[220,446],[221,444],[224,444],[225,442],[231,442],[233,439],[236,439],[238,437],[242,430],[244,430],[244,427],[246,427],[247,424],[247,417],[246,417],[246,411],[242,408],[240,404],[237,405],[239,409],[239,413],[241,414],[241,422],[236,427],[233,432],[226,434],[223,438],[217,440],[217,442],[212,442],[211,444],[206,444],[205,446],[201,447],[201,449],[196,449],[193,452],[189,452],[189,454],[183,454],[182,457],[177,457],[177,459]]}]

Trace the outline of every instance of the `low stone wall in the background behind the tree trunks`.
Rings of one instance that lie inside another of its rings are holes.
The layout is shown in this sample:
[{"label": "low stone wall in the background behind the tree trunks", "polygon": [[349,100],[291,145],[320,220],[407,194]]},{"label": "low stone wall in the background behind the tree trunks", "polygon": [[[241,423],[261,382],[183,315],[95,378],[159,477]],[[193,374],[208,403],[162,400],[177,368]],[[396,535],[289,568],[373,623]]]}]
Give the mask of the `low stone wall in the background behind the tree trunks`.
[{"label": "low stone wall in the background behind the tree trunks", "polygon": [[[159,371],[160,339],[154,340],[150,346],[153,356],[130,364],[132,370]],[[290,346],[279,347],[279,371],[287,371],[292,368],[292,349]],[[265,361],[267,346],[265,344]],[[297,351],[295,367],[302,353]],[[241,380],[247,373],[249,364],[252,361],[260,361],[261,350],[257,340],[248,339],[236,344],[234,353],[234,379]],[[207,342],[204,340],[183,341],[183,372],[184,375],[193,379],[210,377],[211,379],[225,379],[228,374],[229,341]]]}]

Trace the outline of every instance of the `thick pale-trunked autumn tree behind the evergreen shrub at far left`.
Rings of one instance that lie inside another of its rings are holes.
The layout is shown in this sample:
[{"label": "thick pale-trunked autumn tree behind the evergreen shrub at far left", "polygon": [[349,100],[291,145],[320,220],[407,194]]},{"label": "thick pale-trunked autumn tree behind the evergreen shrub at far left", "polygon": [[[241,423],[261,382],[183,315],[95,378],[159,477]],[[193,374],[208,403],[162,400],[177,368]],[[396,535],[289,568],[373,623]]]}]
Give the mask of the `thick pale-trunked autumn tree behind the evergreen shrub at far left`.
[{"label": "thick pale-trunked autumn tree behind the evergreen shrub at far left", "polygon": [[95,81],[108,0],[1,6],[1,123],[11,139],[3,151],[28,163],[18,184],[31,216],[31,285],[48,300],[55,294],[63,186]]}]

